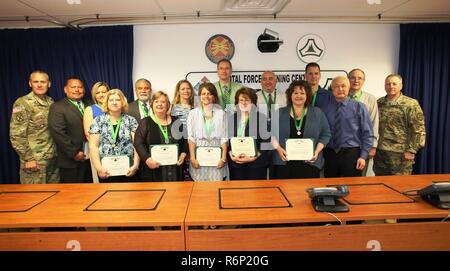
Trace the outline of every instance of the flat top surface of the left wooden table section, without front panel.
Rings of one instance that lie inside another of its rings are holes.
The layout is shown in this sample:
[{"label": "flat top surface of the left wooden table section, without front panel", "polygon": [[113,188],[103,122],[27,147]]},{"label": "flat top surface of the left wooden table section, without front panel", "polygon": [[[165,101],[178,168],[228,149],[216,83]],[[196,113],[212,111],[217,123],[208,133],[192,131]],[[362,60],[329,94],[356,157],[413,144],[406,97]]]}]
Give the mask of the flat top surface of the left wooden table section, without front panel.
[{"label": "flat top surface of the left wooden table section, without front panel", "polygon": [[0,185],[0,228],[182,226],[192,186],[192,182]]}]

